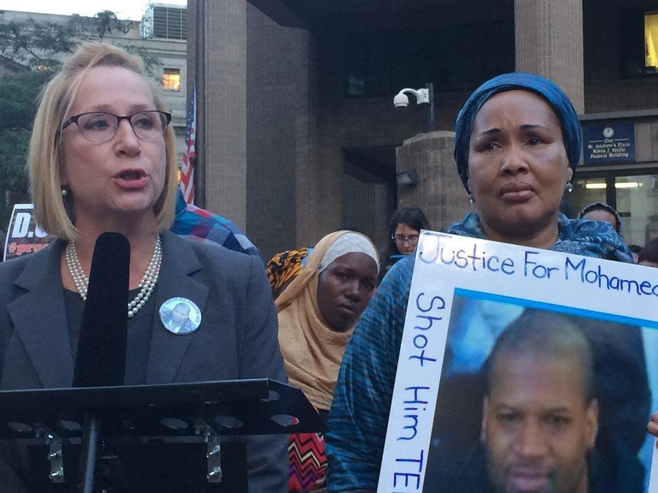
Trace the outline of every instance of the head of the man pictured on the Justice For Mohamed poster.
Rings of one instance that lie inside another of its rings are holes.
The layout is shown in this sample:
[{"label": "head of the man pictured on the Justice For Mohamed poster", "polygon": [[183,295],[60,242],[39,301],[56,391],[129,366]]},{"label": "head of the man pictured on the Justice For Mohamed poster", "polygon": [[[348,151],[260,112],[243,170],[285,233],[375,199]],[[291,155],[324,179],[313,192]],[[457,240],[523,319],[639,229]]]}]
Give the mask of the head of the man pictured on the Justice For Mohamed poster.
[{"label": "head of the man pictured on the Justice For Mohamed poster", "polygon": [[598,431],[589,343],[568,320],[526,312],[485,365],[482,445],[492,492],[586,493]]}]

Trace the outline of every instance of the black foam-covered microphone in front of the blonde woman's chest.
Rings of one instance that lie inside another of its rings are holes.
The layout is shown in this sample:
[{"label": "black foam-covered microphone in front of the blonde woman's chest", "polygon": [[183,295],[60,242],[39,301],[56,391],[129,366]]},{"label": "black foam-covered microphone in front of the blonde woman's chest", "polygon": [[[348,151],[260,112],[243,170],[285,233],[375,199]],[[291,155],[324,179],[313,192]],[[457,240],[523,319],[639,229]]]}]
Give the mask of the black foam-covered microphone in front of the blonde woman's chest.
[{"label": "black foam-covered microphone in front of the blonde woman's chest", "polygon": [[73,370],[74,387],[123,385],[128,324],[130,243],[102,233],[91,260]]}]

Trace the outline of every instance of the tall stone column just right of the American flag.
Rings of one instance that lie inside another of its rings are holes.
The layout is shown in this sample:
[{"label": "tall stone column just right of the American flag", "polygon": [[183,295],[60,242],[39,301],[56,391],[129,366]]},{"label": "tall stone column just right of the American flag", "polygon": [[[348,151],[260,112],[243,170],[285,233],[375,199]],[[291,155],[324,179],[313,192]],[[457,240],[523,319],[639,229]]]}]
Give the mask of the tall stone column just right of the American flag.
[{"label": "tall stone column just right of the American flag", "polygon": [[[188,1],[188,21],[196,0]],[[204,78],[205,207],[244,228],[247,219],[247,0],[204,2],[204,71],[191,63],[188,82]],[[192,23],[193,24],[193,23]],[[195,26],[188,22],[188,61]],[[188,84],[191,87],[191,84]]]}]

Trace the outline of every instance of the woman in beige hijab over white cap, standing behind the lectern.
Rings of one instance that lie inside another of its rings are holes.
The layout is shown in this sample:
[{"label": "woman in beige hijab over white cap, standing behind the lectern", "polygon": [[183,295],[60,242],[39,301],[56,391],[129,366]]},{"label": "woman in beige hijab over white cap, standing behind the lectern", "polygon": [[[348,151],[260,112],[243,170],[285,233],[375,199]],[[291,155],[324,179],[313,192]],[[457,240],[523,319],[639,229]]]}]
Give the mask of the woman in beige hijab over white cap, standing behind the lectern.
[{"label": "woman in beige hijab over white cap, standing behind the lectern", "polygon": [[[338,370],[352,331],[377,283],[379,259],[361,233],[336,231],[322,238],[302,272],[276,300],[279,344],[291,385],[302,389],[326,419]],[[326,474],[324,438],[291,436],[289,491],[321,488]]]}]

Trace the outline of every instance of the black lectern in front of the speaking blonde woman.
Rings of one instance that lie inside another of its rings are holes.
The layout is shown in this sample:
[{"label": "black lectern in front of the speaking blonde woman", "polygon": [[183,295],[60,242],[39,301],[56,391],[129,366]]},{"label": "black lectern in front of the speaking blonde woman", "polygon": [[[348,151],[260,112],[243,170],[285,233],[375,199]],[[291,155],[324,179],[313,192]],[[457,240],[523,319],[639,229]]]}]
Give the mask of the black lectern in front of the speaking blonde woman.
[{"label": "black lectern in front of the speaking blonde woman", "polygon": [[[160,451],[193,444],[205,459],[178,457],[194,462],[196,481],[246,492],[246,436],[317,431],[324,424],[302,391],[269,379],[0,391],[0,440],[32,451],[23,455],[40,460],[44,481],[66,481],[62,491],[73,481],[90,493],[117,464],[139,477],[130,471],[139,457],[157,462]],[[131,453],[136,460],[125,459]],[[177,466],[158,464],[162,477]]]}]

